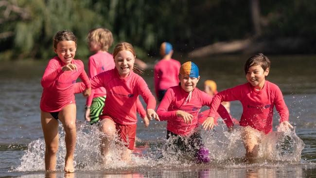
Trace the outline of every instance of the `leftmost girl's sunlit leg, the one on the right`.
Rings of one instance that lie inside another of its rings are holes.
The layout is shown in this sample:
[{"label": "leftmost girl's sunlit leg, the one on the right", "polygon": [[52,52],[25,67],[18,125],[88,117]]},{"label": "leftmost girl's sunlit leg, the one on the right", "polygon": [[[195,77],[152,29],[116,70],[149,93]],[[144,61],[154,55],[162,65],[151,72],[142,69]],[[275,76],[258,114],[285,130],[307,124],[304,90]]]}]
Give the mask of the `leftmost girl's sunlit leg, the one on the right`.
[{"label": "leftmost girl's sunlit leg, the one on the right", "polygon": [[66,157],[65,157],[65,172],[74,172],[73,154],[76,146],[76,105],[71,104],[65,106],[58,115],[58,118],[63,123],[65,130],[66,142]]}]

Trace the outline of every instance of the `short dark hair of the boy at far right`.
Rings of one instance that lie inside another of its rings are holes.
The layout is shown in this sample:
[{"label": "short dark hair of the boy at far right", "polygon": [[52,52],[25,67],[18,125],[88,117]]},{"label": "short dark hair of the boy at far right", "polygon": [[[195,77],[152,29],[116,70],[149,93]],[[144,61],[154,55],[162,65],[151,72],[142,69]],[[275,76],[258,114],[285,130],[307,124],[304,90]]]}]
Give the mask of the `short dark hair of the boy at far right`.
[{"label": "short dark hair of the boy at far right", "polygon": [[258,53],[249,57],[245,63],[245,73],[247,74],[250,67],[258,65],[260,65],[263,68],[263,71],[265,71],[271,66],[270,59],[267,56],[263,55],[263,53]]}]

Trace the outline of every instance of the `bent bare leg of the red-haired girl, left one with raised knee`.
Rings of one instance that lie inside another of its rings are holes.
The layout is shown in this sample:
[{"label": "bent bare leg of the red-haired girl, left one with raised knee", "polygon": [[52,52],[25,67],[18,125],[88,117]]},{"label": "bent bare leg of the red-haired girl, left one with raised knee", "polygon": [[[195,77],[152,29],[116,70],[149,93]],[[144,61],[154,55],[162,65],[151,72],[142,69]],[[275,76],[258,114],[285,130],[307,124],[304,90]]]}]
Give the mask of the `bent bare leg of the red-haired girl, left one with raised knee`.
[{"label": "bent bare leg of the red-haired girl, left one with raised knee", "polygon": [[[109,154],[109,144],[116,134],[115,123],[111,119],[103,119],[100,121],[100,130],[104,133],[101,138],[101,155],[105,157]],[[105,160],[104,160],[105,161]]]}]

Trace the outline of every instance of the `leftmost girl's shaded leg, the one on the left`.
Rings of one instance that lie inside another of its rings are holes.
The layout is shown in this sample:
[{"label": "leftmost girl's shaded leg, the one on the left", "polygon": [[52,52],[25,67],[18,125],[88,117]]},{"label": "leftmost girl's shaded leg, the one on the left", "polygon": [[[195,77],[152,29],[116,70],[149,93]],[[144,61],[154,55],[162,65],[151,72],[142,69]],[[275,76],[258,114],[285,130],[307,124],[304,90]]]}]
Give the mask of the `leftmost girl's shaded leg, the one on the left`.
[{"label": "leftmost girl's shaded leg, the one on the left", "polygon": [[41,124],[45,140],[45,170],[55,171],[58,150],[58,121],[41,110]]}]

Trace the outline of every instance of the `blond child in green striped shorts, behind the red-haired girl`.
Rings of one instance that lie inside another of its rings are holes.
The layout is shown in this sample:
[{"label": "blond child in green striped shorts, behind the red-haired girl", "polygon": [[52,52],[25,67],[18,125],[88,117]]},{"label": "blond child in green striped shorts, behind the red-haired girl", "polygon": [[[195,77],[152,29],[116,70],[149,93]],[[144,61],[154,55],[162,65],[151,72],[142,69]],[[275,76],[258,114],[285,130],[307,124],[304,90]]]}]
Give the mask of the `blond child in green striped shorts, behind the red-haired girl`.
[{"label": "blond child in green striped shorts, behind the red-haired girl", "polygon": [[[106,28],[92,29],[88,33],[89,50],[95,53],[89,57],[88,75],[90,78],[115,68],[113,56],[107,52],[112,43],[112,33]],[[106,90],[104,87],[91,90],[91,95],[87,98],[85,114],[86,121],[90,122],[91,125],[99,121],[99,116],[105,106],[105,97]],[[139,100],[137,103],[137,111],[140,113],[140,117],[144,119],[145,126],[148,126],[148,119],[145,119],[147,117],[146,111]]]}]

